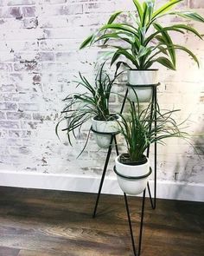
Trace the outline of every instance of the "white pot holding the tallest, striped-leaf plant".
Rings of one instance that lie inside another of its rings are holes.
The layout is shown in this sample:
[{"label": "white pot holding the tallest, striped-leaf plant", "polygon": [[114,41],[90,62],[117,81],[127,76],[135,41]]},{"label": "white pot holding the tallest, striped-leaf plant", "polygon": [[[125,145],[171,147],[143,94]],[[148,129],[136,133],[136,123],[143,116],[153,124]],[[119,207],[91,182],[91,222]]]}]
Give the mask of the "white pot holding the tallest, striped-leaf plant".
[{"label": "white pot holding the tallest, striped-leaf plant", "polygon": [[[128,95],[132,102],[137,102],[137,97],[139,102],[150,102],[152,87],[147,87],[147,85],[158,83],[157,73],[158,69],[128,70]],[[138,85],[140,86],[137,87]]]}]

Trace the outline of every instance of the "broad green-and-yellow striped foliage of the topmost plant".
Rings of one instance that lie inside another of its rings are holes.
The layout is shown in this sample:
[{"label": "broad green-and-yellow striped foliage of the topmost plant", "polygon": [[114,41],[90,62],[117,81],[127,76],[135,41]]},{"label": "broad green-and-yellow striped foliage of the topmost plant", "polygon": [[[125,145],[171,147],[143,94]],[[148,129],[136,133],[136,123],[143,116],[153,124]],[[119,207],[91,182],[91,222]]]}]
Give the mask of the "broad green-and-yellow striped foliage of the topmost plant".
[{"label": "broad green-and-yellow striped foliage of the topmost plant", "polygon": [[[130,69],[150,69],[155,62],[158,62],[174,70],[176,68],[176,50],[179,49],[191,56],[199,66],[194,53],[183,45],[175,44],[170,32],[184,34],[185,31],[188,31],[202,39],[200,33],[186,23],[163,26],[159,21],[163,16],[181,16],[186,20],[204,23],[202,16],[192,11],[173,11],[176,5],[185,0],[166,1],[157,10],[155,0],[144,0],[143,3],[138,0],[132,1],[136,11],[134,15],[131,15],[131,23],[116,22],[122,11],[112,14],[102,28],[86,38],[80,45],[80,49],[99,42],[101,46],[106,45],[115,49],[112,55],[112,64],[118,61],[118,67],[124,63]],[[159,3],[159,1],[157,2]],[[119,62],[120,56],[124,56],[128,62]]]}]

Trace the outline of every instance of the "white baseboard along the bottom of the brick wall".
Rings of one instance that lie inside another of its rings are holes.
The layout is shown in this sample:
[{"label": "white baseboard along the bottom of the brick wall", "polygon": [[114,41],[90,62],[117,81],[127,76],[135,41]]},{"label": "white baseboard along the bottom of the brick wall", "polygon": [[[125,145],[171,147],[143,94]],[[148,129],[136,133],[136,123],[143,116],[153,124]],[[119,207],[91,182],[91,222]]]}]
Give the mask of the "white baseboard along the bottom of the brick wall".
[{"label": "white baseboard along the bottom of the brick wall", "polygon": [[[0,186],[97,193],[99,178],[73,174],[37,174],[0,171]],[[153,188],[153,182],[150,181]],[[122,194],[115,177],[105,178],[103,194]],[[157,198],[204,201],[204,184],[157,181]]]}]

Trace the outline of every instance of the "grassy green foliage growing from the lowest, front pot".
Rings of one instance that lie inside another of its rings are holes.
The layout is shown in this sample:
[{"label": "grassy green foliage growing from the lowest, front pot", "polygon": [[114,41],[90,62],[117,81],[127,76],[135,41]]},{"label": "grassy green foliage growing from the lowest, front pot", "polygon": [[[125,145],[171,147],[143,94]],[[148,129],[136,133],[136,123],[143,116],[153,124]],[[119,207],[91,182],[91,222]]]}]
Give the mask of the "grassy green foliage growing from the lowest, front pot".
[{"label": "grassy green foliage growing from the lowest, front pot", "polygon": [[[173,115],[176,110],[160,110],[151,103],[141,108],[139,103],[130,103],[130,114],[119,114],[119,132],[124,136],[127,154],[122,154],[121,161],[136,162],[143,160],[143,154],[152,143],[164,144],[164,140],[179,137],[187,140],[188,134],[182,131],[182,123],[176,123]],[[153,115],[151,114],[151,111]],[[156,126],[152,123],[156,121]]]}]

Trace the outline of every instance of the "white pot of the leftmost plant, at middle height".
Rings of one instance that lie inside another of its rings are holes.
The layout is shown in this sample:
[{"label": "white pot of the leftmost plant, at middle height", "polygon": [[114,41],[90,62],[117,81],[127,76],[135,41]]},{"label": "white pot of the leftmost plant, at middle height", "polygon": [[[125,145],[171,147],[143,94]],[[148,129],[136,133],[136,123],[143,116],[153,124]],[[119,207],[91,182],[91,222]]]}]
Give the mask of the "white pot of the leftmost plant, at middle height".
[{"label": "white pot of the leftmost plant, at middle height", "polygon": [[[118,121],[99,121],[92,118],[92,129],[99,133],[117,133]],[[100,148],[109,148],[112,135],[94,133],[94,138]]]}]

